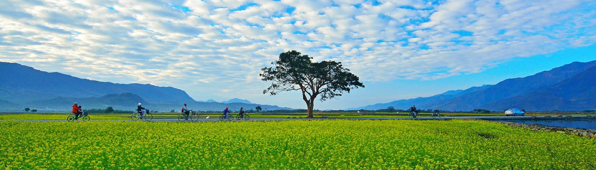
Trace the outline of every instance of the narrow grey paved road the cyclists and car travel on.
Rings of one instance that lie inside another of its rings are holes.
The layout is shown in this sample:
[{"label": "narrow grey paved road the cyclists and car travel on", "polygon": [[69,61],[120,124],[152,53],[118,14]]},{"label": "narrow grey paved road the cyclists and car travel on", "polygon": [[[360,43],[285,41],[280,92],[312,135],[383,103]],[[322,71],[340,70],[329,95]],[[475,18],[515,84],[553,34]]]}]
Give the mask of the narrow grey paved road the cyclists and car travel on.
[{"label": "narrow grey paved road the cyclists and car travel on", "polygon": [[[91,117],[91,121],[132,121],[131,119],[113,119],[113,120],[94,120],[93,119],[93,115],[90,115]],[[66,117],[65,117],[66,118]],[[538,117],[538,118],[532,118],[532,117],[505,117],[505,116],[486,116],[486,117],[441,117],[441,118],[432,118],[432,117],[419,117],[419,118],[407,118],[407,117],[380,117],[380,118],[250,118],[250,120],[248,121],[294,121],[294,120],[323,120],[323,119],[353,119],[353,120],[387,120],[387,119],[417,119],[417,120],[424,120],[424,119],[485,119],[485,120],[495,120],[495,119],[586,119],[588,117],[585,116],[574,116],[573,118],[557,118],[557,117],[553,117],[553,118],[544,118],[544,117]],[[592,119],[594,119],[594,117],[592,117]],[[48,121],[56,121],[56,122],[61,122],[61,121],[66,121],[66,119],[61,119],[61,120],[23,120],[23,121],[34,121],[34,122],[48,122]],[[141,121],[141,120],[139,120]],[[228,120],[225,120],[228,121]],[[247,120],[237,120],[234,119],[234,121],[247,121]],[[179,122],[178,118],[159,118],[159,117],[154,117],[151,122]],[[190,119],[188,119],[187,122],[192,122]],[[200,117],[200,119],[198,120],[198,122],[219,122],[219,117],[209,117],[208,119],[206,117]]]}]

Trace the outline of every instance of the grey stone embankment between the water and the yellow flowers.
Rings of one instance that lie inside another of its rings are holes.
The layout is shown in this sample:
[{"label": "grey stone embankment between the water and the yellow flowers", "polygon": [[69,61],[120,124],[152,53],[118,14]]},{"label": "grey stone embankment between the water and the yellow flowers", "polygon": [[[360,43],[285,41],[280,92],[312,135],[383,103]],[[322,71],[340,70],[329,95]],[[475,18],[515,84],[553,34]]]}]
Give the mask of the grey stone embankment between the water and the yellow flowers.
[{"label": "grey stone embankment between the water and the yellow flowers", "polygon": [[596,137],[596,130],[588,130],[582,128],[564,128],[564,127],[550,127],[545,125],[539,124],[516,124],[516,123],[508,123],[502,122],[503,124],[510,125],[511,127],[518,127],[518,128],[526,128],[534,131],[555,131],[558,133],[564,134],[572,134],[575,136],[583,136],[583,137]]}]

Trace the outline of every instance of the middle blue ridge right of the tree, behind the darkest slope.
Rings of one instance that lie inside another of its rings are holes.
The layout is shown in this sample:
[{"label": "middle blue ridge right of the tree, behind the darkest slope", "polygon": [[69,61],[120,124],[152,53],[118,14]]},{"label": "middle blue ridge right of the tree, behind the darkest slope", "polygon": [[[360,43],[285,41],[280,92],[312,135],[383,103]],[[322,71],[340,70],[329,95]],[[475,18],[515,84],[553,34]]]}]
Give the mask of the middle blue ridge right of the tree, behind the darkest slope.
[{"label": "middle blue ridge right of the tree, behind the darkest slope", "polygon": [[[572,62],[550,71],[530,75],[523,78],[510,78],[495,84],[485,90],[467,93],[453,99],[439,100],[422,105],[420,108],[445,109],[449,111],[471,111],[482,108],[491,102],[496,102],[509,97],[525,95],[542,87],[552,86],[588,68],[596,67],[596,61]],[[548,101],[544,101],[548,103]]]}]

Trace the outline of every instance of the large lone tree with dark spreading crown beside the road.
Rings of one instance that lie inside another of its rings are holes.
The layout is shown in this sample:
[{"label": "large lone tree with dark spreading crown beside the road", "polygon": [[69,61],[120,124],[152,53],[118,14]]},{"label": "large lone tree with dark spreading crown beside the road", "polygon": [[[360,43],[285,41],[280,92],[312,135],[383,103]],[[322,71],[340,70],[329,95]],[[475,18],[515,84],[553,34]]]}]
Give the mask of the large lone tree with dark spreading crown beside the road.
[{"label": "large lone tree with dark spreading crown beside the road", "polygon": [[280,92],[299,90],[308,108],[307,118],[312,118],[313,105],[317,96],[324,101],[350,93],[350,90],[364,87],[358,76],[344,68],[342,62],[312,62],[312,57],[300,55],[297,51],[280,53],[274,67],[265,67],[259,74],[263,81],[273,81],[263,94],[277,95]]}]

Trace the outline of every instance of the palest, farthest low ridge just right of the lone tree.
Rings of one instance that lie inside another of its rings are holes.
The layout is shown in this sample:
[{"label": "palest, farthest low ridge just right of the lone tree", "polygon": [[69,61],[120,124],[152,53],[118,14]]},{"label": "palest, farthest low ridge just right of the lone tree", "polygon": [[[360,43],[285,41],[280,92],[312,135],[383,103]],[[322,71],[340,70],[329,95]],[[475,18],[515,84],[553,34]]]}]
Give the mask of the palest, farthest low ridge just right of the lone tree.
[{"label": "palest, farthest low ridge just right of the lone tree", "polygon": [[434,96],[430,96],[430,97],[417,97],[415,99],[395,100],[395,101],[389,102],[389,103],[377,103],[374,105],[362,106],[359,108],[349,108],[347,110],[360,110],[360,109],[378,110],[378,109],[389,108],[389,106],[393,106],[393,108],[396,108],[396,109],[408,109],[412,105],[421,106],[421,105],[426,105],[426,104],[436,102],[439,100],[453,99],[457,96],[484,90],[491,86],[492,85],[482,85],[480,87],[470,87],[465,90],[449,90],[445,93],[441,93],[439,95],[434,95]]}]

